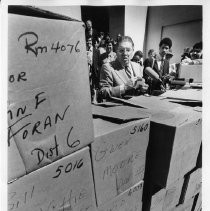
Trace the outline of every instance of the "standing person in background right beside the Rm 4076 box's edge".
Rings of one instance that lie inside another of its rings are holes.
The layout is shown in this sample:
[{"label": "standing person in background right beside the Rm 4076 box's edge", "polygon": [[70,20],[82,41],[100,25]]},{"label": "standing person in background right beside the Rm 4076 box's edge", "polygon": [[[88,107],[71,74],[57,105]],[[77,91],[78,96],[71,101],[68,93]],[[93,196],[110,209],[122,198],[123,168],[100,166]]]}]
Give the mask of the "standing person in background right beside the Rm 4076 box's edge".
[{"label": "standing person in background right beside the Rm 4076 box's edge", "polygon": [[97,92],[99,89],[99,77],[100,77],[100,72],[99,72],[100,54],[99,50],[93,47],[91,36],[87,37],[86,47],[87,47],[91,102],[97,103]]}]

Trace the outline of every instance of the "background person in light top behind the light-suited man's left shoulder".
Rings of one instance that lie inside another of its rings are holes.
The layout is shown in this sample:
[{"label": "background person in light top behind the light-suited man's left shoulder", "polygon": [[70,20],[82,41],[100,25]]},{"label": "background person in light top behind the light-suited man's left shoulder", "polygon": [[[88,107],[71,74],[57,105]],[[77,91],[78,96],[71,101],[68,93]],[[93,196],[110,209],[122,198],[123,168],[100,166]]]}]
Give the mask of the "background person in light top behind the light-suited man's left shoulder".
[{"label": "background person in light top behind the light-suited man's left shoulder", "polygon": [[100,60],[101,64],[105,64],[106,62],[111,62],[116,59],[116,53],[113,52],[113,42],[109,41],[106,43],[106,52],[101,54]]}]

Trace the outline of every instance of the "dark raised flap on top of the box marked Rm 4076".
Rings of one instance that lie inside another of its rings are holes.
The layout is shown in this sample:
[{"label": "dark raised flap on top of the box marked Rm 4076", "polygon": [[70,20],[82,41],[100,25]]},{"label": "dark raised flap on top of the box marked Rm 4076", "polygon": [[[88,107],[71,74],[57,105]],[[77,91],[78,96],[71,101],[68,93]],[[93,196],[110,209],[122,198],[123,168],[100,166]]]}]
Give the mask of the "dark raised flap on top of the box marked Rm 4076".
[{"label": "dark raised flap on top of the box marked Rm 4076", "polygon": [[39,17],[39,18],[47,18],[47,19],[79,21],[71,17],[57,14],[50,11],[46,11],[34,6],[10,5],[8,6],[8,13],[13,13],[17,15],[25,15],[25,16],[33,16],[33,17]]}]

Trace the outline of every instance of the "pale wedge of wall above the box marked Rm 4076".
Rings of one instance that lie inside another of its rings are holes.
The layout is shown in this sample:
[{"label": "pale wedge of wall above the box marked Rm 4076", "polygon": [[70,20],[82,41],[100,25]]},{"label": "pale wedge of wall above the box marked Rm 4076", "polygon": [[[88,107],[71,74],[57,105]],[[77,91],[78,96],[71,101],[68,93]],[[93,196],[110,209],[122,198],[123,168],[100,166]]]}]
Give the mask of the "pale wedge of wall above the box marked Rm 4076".
[{"label": "pale wedge of wall above the box marked Rm 4076", "polygon": [[39,8],[66,15],[77,20],[82,19],[80,6],[39,6]]}]

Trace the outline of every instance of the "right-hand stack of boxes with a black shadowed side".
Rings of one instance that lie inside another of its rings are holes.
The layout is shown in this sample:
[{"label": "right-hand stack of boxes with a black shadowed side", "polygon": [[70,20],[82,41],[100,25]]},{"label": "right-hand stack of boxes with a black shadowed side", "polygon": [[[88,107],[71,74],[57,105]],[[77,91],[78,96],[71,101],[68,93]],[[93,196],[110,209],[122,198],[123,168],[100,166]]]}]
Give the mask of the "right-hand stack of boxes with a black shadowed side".
[{"label": "right-hand stack of boxes with a black shadowed side", "polygon": [[140,96],[118,102],[139,106],[152,115],[143,209],[167,211],[193,205],[195,194],[185,203],[180,203],[180,197],[186,175],[201,161],[201,110],[162,97]]}]

